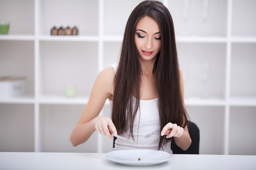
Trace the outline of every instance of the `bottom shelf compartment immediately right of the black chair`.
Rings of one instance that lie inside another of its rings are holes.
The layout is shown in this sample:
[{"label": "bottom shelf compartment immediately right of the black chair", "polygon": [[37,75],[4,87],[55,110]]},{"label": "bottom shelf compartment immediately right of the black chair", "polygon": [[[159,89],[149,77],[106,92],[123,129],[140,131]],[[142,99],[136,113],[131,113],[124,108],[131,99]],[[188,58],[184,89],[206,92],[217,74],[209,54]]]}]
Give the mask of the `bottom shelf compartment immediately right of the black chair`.
[{"label": "bottom shelf compartment immediately right of the black chair", "polygon": [[200,130],[200,154],[222,155],[224,150],[225,107],[187,106],[190,120]]}]

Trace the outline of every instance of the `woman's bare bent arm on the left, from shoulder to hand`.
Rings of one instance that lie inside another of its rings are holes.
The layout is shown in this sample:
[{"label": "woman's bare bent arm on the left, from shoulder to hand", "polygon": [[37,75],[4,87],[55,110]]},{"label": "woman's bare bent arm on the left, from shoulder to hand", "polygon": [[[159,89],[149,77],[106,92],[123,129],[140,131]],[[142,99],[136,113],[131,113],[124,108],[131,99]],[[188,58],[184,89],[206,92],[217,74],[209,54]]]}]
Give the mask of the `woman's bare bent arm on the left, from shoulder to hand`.
[{"label": "woman's bare bent arm on the left, from shoulder to hand", "polygon": [[73,146],[83,144],[95,130],[98,130],[102,135],[107,135],[110,139],[112,135],[109,130],[117,133],[112,120],[106,116],[99,115],[106,99],[112,95],[114,79],[115,71],[111,67],[104,69],[97,76],[89,101],[70,135],[70,141]]}]

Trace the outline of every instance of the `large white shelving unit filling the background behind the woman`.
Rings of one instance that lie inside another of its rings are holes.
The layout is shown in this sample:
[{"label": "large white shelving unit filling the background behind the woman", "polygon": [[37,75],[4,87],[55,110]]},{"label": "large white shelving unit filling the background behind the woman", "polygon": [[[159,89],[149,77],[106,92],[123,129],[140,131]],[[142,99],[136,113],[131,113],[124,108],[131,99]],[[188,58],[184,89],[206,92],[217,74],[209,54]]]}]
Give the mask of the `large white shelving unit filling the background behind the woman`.
[{"label": "large white shelving unit filling the background behind the woman", "polygon": [[[112,141],[97,132],[75,148],[69,136],[97,74],[118,61],[139,2],[0,0],[0,20],[11,21],[9,34],[0,35],[0,76],[27,77],[26,96],[0,94],[0,151],[111,150]],[[256,155],[256,1],[161,2],[173,17],[200,154]],[[51,36],[52,26],[77,26],[79,35]],[[76,97],[65,97],[65,84],[76,85]],[[108,101],[101,114],[110,114]]]}]

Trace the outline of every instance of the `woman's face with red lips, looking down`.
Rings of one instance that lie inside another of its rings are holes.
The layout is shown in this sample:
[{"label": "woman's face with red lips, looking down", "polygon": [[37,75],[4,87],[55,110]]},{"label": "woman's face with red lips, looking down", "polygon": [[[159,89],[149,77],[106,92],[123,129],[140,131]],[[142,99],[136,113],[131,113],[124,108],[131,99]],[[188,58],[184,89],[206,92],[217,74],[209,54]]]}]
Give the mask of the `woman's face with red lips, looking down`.
[{"label": "woman's face with red lips, looking down", "polygon": [[148,16],[141,18],[135,28],[135,45],[142,60],[153,60],[161,47],[157,22]]}]

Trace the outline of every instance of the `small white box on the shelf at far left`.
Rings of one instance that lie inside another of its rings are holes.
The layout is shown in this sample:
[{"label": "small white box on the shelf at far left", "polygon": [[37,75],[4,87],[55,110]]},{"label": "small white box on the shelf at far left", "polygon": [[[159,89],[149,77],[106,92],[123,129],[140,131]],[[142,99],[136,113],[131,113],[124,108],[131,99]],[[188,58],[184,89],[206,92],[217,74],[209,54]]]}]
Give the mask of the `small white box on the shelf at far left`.
[{"label": "small white box on the shelf at far left", "polygon": [[0,98],[17,97],[26,93],[26,77],[0,77]]}]

